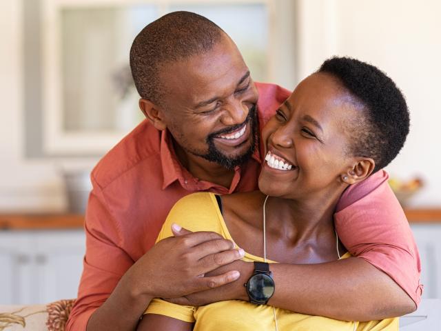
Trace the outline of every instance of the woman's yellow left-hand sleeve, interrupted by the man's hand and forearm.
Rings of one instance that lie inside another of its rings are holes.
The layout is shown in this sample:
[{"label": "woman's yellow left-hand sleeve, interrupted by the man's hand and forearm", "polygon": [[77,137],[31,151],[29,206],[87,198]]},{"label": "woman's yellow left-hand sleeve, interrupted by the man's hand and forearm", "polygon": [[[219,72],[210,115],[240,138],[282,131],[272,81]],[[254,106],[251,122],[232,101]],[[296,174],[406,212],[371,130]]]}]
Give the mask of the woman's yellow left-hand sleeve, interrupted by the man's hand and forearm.
[{"label": "woman's yellow left-hand sleeve, interrupted by the man's hand and forearm", "polygon": [[[170,210],[156,242],[173,236],[172,223],[190,231],[214,231],[223,235],[216,205],[216,198],[212,193],[198,192],[183,197]],[[161,299],[153,299],[144,314],[159,314],[193,323],[195,311],[196,308],[189,305],[176,305]]]}]

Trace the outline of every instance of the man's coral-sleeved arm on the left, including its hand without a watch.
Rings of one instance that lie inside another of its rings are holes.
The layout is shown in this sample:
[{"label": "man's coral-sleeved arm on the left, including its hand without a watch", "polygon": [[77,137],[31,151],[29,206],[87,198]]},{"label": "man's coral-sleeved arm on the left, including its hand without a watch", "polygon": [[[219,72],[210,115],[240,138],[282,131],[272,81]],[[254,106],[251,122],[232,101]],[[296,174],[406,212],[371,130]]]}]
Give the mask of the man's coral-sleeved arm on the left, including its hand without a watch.
[{"label": "man's coral-sleeved arm on the left, including its hand without a watch", "polygon": [[240,259],[231,241],[212,232],[161,241],[134,263],[119,245],[118,228],[104,201],[94,185],[85,223],[83,275],[67,330],[134,330],[152,297],[185,295],[238,277],[234,270],[199,277]]}]

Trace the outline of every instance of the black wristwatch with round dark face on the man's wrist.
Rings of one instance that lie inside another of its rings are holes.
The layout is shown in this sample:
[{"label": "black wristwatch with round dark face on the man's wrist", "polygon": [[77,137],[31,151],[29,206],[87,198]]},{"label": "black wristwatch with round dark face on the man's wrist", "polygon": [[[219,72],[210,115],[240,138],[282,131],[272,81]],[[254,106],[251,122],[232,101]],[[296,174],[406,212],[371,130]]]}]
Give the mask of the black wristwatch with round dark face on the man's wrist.
[{"label": "black wristwatch with round dark face on the man's wrist", "polygon": [[273,296],[275,285],[269,264],[254,262],[254,272],[247,283],[243,284],[247,289],[249,302],[256,305],[265,305]]}]

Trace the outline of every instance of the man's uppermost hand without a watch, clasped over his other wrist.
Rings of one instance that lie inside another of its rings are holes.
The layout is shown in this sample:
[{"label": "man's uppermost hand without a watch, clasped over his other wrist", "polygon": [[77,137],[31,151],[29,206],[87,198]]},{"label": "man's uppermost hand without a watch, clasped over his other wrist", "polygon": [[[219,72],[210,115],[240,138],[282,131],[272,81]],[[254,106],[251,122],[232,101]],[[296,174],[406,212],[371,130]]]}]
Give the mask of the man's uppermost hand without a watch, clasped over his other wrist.
[{"label": "man's uppermost hand without a watch, clasped over his other wrist", "polygon": [[225,270],[204,277],[222,265],[243,257],[232,241],[215,232],[189,232],[172,225],[177,237],[161,240],[127,271],[123,281],[134,296],[182,297],[216,288],[240,277],[238,270]]}]

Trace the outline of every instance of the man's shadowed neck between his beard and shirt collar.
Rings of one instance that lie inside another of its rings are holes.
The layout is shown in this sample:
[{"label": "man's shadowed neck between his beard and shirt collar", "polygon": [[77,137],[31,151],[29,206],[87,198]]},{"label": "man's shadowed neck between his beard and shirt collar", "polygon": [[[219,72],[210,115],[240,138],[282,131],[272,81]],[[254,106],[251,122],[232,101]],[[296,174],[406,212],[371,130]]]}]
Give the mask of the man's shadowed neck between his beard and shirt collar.
[{"label": "man's shadowed neck between his beard and shirt collar", "polygon": [[177,143],[173,143],[176,157],[183,167],[194,177],[201,181],[209,181],[225,188],[229,188],[234,177],[234,170],[229,170],[222,165],[207,161],[203,157],[198,157],[185,151]]}]

